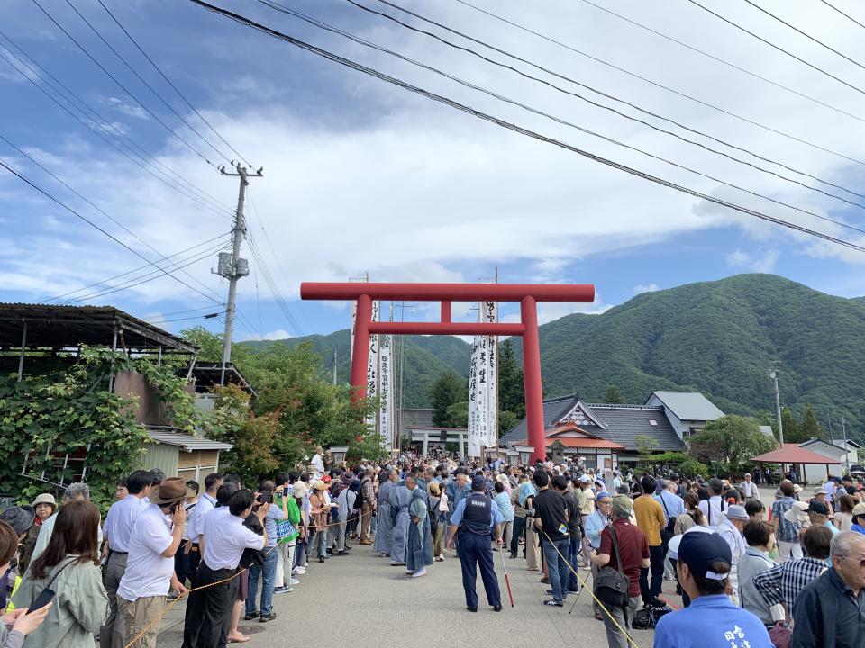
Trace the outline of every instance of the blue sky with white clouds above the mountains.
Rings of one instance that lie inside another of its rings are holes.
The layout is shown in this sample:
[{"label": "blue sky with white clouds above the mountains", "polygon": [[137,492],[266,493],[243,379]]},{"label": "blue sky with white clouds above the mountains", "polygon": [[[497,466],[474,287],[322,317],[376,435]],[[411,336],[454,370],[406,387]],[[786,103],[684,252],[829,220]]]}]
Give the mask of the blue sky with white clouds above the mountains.
[{"label": "blue sky with white clouds above the mountains", "polygon": [[[475,282],[497,268],[502,282],[596,284],[596,303],[557,305],[542,311],[544,320],[744,272],[865,294],[865,253],[479,121],[192,2],[102,0],[188,103],[98,0],[38,2],[44,12],[33,0],[0,6],[0,161],[78,215],[0,167],[0,302],[113,304],[173,331],[221,329],[219,318],[202,316],[223,308],[227,284],[212,270],[226,249],[237,181],[215,166],[238,153],[264,167],[246,204],[244,339],[345,327],[343,304],[300,302],[298,285],[366,273],[374,281]],[[853,62],[743,0],[700,0],[815,69],[691,0],[471,0],[518,26],[460,0],[394,3],[528,64],[378,0],[355,3],[546,83],[347,0],[279,4],[414,63],[256,0],[213,0],[525,129],[865,244],[844,227],[865,229],[862,208],[851,204],[865,204],[856,194],[865,194],[865,31],[825,4],[754,2]],[[852,0],[833,4],[865,23]]]}]

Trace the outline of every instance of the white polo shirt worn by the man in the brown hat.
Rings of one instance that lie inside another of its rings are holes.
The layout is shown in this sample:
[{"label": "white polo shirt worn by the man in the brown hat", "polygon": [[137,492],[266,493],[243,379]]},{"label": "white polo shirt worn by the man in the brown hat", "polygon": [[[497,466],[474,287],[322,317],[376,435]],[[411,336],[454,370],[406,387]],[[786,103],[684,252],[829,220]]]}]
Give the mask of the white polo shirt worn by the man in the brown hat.
[{"label": "white polo shirt worn by the man in the brown hat", "polygon": [[174,573],[174,557],[160,554],[168,549],[171,520],[156,504],[149,504],[135,520],[129,537],[129,559],[126,572],[117,588],[117,596],[128,601],[151,596],[167,596]]}]

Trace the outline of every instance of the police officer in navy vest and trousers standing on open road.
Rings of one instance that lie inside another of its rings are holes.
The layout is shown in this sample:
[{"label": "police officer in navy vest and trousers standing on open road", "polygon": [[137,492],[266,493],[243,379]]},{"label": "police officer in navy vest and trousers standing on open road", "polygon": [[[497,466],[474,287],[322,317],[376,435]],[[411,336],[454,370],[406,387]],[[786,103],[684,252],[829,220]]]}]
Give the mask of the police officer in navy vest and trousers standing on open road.
[{"label": "police officer in navy vest and trousers standing on open road", "polygon": [[502,546],[502,524],[505,519],[486,490],[487,480],[483,475],[475,475],[471,480],[471,493],[460,500],[453,510],[451,527],[448,529],[448,548],[453,548],[455,535],[459,535],[462,587],[466,590],[466,609],[469,612],[478,611],[478,592],[475,590],[478,565],[487,592],[487,602],[495,612],[502,611],[490,539],[495,529],[496,545]]}]

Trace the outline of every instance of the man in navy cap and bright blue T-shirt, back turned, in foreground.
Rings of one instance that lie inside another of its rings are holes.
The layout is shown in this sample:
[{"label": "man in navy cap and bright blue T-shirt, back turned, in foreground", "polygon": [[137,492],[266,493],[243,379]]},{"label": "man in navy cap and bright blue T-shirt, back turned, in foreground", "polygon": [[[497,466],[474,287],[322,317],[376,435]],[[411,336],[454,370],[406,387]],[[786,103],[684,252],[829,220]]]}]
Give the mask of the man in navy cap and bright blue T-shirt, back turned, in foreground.
[{"label": "man in navy cap and bright blue T-shirt, back turned, in foreground", "polygon": [[691,605],[660,618],[655,648],[770,648],[766,626],[724,594],[733,563],[724,538],[714,533],[684,534],[677,554],[678,581]]}]

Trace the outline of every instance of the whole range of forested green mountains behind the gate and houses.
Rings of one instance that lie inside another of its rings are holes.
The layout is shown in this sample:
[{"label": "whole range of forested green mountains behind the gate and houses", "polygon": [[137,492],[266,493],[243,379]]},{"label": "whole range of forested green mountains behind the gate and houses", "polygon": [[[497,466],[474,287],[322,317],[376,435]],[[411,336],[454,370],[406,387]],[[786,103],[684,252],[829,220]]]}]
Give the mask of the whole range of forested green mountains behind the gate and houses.
[{"label": "whole range of forested green mountains behind the gate and houses", "polygon": [[[600,315],[575,314],[541,327],[544,393],[602,401],[613,383],[628,402],[653,390],[704,392],[724,411],[774,411],[769,379],[778,367],[781,402],[801,418],[812,403],[840,435],[865,439],[865,299],[844,299],[776,275],[736,275],[643,293]],[[304,339],[338,377],[349,374],[349,332]],[[250,343],[266,345],[269,343]],[[516,356],[522,345],[514,339]],[[405,406],[429,406],[428,388],[446,369],[466,375],[470,347],[459,338],[405,338]],[[780,363],[778,364],[778,361]],[[774,365],[773,365],[774,363]]]}]

